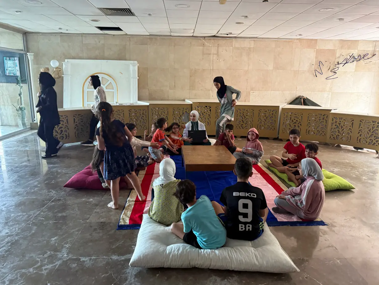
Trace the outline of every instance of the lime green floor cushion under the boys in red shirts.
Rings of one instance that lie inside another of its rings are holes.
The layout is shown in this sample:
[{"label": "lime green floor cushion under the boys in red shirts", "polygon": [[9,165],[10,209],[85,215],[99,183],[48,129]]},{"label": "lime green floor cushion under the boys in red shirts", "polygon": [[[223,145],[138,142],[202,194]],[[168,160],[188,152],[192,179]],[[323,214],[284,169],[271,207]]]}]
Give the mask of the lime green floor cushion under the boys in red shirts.
[{"label": "lime green floor cushion under the boys in red shirts", "polygon": [[[265,160],[266,164],[271,163],[270,160]],[[280,173],[277,171],[277,169],[273,167],[269,167],[269,169],[280,179],[284,180],[288,185],[291,185],[292,187],[295,187],[295,184],[288,180],[288,176],[285,173]],[[351,190],[355,189],[355,187],[342,177],[335,175],[325,169],[323,169],[324,174],[324,188],[325,191],[331,191],[331,190]]]}]

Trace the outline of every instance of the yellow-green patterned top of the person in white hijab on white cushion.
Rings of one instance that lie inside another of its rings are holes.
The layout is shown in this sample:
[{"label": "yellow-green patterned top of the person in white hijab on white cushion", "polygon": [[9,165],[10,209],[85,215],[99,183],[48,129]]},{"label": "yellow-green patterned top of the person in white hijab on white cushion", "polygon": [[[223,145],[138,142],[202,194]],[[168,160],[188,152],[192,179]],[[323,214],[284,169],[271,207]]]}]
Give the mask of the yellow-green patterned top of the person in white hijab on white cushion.
[{"label": "yellow-green patterned top of the person in white hijab on white cushion", "polygon": [[155,222],[169,226],[180,221],[184,206],[174,196],[176,184],[180,180],[174,180],[154,186],[154,199],[151,201],[149,217]]}]

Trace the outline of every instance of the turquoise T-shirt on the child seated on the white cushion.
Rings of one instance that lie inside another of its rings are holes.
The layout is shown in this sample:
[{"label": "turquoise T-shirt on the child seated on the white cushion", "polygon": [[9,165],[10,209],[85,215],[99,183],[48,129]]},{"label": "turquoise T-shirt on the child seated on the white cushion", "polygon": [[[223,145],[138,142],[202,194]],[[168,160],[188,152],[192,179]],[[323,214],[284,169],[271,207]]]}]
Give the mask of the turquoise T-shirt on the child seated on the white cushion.
[{"label": "turquoise T-shirt on the child seated on the white cushion", "polygon": [[225,244],[225,228],[215,214],[210,199],[202,195],[182,214],[184,232],[193,231],[202,249],[218,249]]}]

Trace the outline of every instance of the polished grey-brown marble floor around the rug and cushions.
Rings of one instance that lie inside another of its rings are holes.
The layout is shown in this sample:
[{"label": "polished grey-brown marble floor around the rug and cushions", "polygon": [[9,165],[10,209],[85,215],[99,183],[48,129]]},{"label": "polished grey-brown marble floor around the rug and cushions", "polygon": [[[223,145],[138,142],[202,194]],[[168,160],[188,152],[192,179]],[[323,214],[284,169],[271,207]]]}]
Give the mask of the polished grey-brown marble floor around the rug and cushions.
[{"label": "polished grey-brown marble floor around the rug and cushions", "polygon": [[[284,144],[262,143],[265,157],[280,155]],[[65,146],[50,160],[40,159],[43,149],[35,133],[0,141],[0,284],[379,284],[379,159],[372,152],[320,146],[324,168],[357,189],[326,193],[321,218],[329,226],[271,227],[301,271],[267,274],[129,268],[138,230],[115,231],[122,207],[106,207],[110,192],[63,188],[90,163],[92,147]],[[127,195],[121,192],[120,204]]]}]

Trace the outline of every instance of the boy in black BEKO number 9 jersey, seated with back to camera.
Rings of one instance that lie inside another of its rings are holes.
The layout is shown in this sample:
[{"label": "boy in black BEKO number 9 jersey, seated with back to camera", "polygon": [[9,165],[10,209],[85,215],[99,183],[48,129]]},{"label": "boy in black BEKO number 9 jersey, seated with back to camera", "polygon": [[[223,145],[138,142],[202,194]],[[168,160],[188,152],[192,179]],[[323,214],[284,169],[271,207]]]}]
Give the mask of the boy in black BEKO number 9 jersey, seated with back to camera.
[{"label": "boy in black BEKO number 9 jersey, seated with back to camera", "polygon": [[221,193],[220,201],[225,206],[215,201],[212,201],[212,206],[225,224],[227,237],[254,241],[263,233],[268,214],[266,198],[261,188],[249,184],[249,177],[253,174],[251,161],[245,157],[238,158],[234,174],[237,183]]}]

